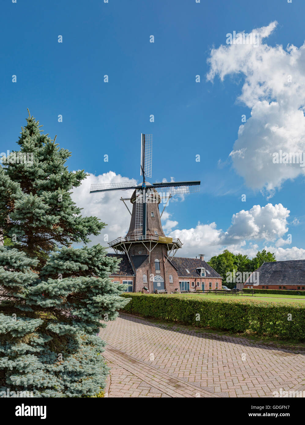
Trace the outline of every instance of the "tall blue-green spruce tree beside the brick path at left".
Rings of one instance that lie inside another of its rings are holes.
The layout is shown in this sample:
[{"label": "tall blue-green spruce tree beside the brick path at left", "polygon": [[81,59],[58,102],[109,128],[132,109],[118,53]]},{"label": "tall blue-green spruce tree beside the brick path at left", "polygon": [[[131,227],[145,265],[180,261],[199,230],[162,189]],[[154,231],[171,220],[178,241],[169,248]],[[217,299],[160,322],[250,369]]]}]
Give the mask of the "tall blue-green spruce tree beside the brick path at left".
[{"label": "tall blue-green spruce tree beside the brick path at left", "polygon": [[105,227],[71,200],[86,174],[40,127],[29,114],[0,167],[0,391],[94,396],[108,374],[96,334],[128,300],[108,278],[118,260],[86,246]]}]

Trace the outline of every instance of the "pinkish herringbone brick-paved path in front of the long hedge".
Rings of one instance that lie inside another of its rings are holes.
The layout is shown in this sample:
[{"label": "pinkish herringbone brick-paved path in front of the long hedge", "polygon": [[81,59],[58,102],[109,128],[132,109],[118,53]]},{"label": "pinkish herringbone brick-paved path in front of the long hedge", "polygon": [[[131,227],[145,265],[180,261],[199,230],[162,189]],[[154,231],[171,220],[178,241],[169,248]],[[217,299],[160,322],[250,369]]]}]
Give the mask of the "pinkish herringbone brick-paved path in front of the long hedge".
[{"label": "pinkish herringbone brick-paved path in front of the long hedge", "polygon": [[100,337],[108,397],[272,397],[305,388],[305,352],[123,313]]}]

